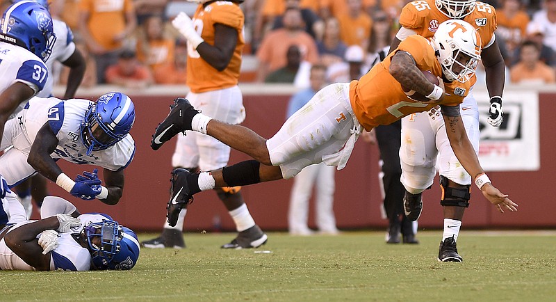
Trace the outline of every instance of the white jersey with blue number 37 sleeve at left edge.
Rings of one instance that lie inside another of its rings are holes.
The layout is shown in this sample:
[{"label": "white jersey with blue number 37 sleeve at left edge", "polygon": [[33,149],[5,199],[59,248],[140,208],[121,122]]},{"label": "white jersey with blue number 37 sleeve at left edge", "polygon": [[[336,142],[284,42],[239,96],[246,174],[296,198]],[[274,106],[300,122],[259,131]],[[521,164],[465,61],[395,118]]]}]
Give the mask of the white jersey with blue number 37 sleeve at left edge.
[{"label": "white jersey with blue number 37 sleeve at left edge", "polygon": [[[0,42],[0,92],[15,82],[21,82],[37,94],[48,79],[47,65],[38,56],[23,47]],[[12,117],[21,109],[22,106],[16,109]]]}]

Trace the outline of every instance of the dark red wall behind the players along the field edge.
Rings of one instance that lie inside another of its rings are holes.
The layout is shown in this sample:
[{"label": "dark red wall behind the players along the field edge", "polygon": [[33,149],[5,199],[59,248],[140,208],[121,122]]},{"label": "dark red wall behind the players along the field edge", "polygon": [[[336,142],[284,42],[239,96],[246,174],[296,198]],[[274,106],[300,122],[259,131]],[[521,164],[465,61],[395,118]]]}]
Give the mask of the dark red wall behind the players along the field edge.
[{"label": "dark red wall behind the players along the field edge", "polygon": [[[106,90],[108,91],[108,90]],[[174,96],[142,95],[128,93],[136,105],[136,123],[131,134],[136,141],[137,151],[133,163],[126,169],[124,197],[115,206],[101,204],[98,200],[79,200],[70,196],[55,184],[49,184],[53,195],[62,196],[74,202],[81,212],[105,212],[133,228],[133,230],[160,230],[165,219],[165,205],[169,198],[171,157],[174,141],[170,141],[154,152],[149,142],[154,128],[168,112]],[[81,94],[83,97],[85,94]],[[96,94],[86,94],[93,96]],[[179,93],[177,95],[183,95]],[[91,97],[92,98],[92,97]],[[284,122],[289,95],[249,94],[244,96],[247,119],[244,124],[266,138],[270,138]],[[496,172],[489,177],[498,188],[509,193],[519,204],[516,213],[499,214],[482,196],[475,186],[472,189],[471,206],[466,211],[466,228],[536,228],[556,227],[556,202],[550,189],[553,184],[553,160],[556,142],[552,129],[556,120],[551,113],[556,112],[556,93],[540,93],[540,141],[541,168],[534,172]],[[384,228],[387,223],[381,217],[382,199],[379,191],[377,148],[360,140],[347,167],[336,173],[336,194],[334,212],[340,229]],[[230,164],[249,159],[245,154],[233,151]],[[76,175],[90,166],[76,166],[58,161],[67,175]],[[279,180],[254,186],[245,186],[242,192],[247,206],[256,223],[263,230],[286,230],[288,200],[292,180]],[[424,195],[423,214],[419,219],[420,228],[441,228],[442,209],[439,205],[440,189],[438,180]],[[310,226],[314,226],[311,205]],[[37,218],[38,213],[33,214]],[[220,223],[215,223],[220,221]],[[222,230],[234,230],[234,224],[226,209],[212,191],[195,196],[188,208],[186,230],[212,231],[220,224]]]}]

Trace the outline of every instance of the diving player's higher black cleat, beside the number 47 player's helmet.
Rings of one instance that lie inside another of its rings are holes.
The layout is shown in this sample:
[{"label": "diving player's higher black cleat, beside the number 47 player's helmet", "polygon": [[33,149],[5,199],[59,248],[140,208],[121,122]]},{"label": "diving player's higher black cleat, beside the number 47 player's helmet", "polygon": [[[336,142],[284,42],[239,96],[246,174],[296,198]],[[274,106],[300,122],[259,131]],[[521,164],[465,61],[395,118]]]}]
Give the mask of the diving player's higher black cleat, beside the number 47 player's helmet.
[{"label": "diving player's higher black cleat, beside the number 47 player's helmet", "polygon": [[158,124],[152,135],[151,148],[158,150],[161,146],[170,141],[170,138],[180,132],[185,134],[186,130],[191,130],[191,120],[199,111],[195,110],[188,100],[178,97],[174,104],[170,105],[170,113]]}]

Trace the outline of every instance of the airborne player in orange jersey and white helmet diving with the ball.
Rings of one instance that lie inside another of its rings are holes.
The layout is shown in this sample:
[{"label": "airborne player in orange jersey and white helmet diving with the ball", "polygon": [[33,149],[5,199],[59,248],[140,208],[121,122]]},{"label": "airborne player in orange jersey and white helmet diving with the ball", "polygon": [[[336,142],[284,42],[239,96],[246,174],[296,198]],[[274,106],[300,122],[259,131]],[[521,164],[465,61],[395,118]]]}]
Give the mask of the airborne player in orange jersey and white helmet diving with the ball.
[{"label": "airborne player in orange jersey and white helmet diving with the ball", "polygon": [[[321,161],[341,169],[350,157],[361,125],[370,131],[377,125],[388,125],[437,106],[449,127],[448,139],[459,162],[475,176],[475,184],[484,197],[499,212],[516,211],[517,205],[498,191],[482,170],[459,112],[480,59],[479,45],[480,35],[473,26],[459,20],[440,24],[432,40],[411,35],[359,81],[332,84],[320,90],[268,140],[246,127],[213,120],[187,100],[174,100],[170,114],[156,129],[154,137],[158,140],[152,141],[153,149],[179,132],[193,129],[218,138],[255,160],[199,174],[174,169],[167,215],[174,215],[192,202],[195,193],[214,187],[288,179],[305,166]],[[427,81],[421,70],[442,76],[440,86]],[[426,95],[430,101],[412,100],[402,86]]]}]

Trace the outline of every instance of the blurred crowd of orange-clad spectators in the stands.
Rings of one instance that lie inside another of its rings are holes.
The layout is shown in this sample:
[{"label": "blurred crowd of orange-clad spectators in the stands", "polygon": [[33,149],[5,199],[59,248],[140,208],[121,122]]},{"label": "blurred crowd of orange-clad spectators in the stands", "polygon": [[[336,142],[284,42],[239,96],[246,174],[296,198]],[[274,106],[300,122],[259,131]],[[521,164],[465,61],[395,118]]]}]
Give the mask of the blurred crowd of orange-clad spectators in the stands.
[{"label": "blurred crowd of orange-clad spectators in the stands", "polygon": [[[251,59],[240,81],[306,88],[316,63],[327,67],[329,82],[349,81],[350,65],[364,73],[387,51],[409,2],[245,0],[244,56]],[[555,83],[556,0],[484,2],[496,8],[509,82]],[[170,21],[196,8],[184,0],[51,0],[53,17],[70,26],[88,61],[84,87],[185,84],[188,48]],[[58,84],[65,84],[64,72],[54,70]]]}]

